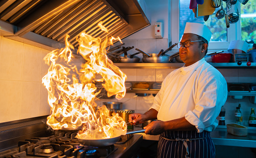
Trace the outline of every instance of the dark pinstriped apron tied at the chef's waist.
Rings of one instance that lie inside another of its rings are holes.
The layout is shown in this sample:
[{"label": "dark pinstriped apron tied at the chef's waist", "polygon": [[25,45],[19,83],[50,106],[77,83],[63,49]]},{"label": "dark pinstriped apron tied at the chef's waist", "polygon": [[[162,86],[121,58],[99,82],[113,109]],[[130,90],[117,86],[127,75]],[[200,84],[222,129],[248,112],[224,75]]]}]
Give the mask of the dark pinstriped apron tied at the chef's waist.
[{"label": "dark pinstriped apron tied at the chef's waist", "polygon": [[157,158],[215,158],[209,131],[165,131],[159,137]]}]

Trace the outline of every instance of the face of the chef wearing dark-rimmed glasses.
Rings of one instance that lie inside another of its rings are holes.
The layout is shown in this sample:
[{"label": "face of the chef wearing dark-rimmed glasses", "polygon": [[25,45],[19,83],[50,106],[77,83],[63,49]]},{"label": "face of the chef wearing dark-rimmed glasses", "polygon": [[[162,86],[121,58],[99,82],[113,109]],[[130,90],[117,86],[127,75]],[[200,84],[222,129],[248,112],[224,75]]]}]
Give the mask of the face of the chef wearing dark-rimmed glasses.
[{"label": "face of the chef wearing dark-rimmed glasses", "polygon": [[[186,41],[198,41],[198,36],[192,33],[185,33],[182,36],[181,43]],[[191,42],[189,47],[181,46],[179,49],[179,54],[181,60],[186,64],[186,66],[192,65],[205,57],[205,51],[202,49],[200,42]]]}]

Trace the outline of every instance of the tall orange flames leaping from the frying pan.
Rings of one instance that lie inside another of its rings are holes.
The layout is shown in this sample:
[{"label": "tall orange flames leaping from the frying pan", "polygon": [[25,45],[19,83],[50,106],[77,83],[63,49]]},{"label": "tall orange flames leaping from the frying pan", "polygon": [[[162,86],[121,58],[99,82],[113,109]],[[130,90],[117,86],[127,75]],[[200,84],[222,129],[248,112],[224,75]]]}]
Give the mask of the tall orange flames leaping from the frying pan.
[{"label": "tall orange flames leaping from the frying pan", "polygon": [[[103,31],[107,29],[99,23]],[[78,129],[78,136],[86,139],[104,139],[126,134],[127,125],[118,114],[110,116],[109,110],[99,107],[96,111],[95,98],[100,93],[95,92],[95,83],[102,83],[108,97],[116,95],[120,100],[124,97],[126,75],[113,65],[106,55],[106,48],[119,38],[94,38],[81,33],[78,53],[85,59],[83,64],[72,54],[74,47],[68,42],[66,46],[50,52],[44,57],[50,65],[48,73],[42,78],[42,83],[48,90],[48,102],[51,115],[47,124],[52,129]]]}]

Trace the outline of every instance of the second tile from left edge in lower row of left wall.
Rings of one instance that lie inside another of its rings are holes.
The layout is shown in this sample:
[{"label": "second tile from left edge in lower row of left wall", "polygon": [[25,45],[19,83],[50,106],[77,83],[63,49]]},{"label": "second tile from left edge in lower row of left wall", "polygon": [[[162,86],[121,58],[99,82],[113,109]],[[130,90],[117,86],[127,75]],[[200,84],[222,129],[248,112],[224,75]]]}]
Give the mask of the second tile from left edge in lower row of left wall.
[{"label": "second tile from left edge in lower row of left wall", "polygon": [[20,119],[36,117],[39,111],[39,83],[22,82]]}]

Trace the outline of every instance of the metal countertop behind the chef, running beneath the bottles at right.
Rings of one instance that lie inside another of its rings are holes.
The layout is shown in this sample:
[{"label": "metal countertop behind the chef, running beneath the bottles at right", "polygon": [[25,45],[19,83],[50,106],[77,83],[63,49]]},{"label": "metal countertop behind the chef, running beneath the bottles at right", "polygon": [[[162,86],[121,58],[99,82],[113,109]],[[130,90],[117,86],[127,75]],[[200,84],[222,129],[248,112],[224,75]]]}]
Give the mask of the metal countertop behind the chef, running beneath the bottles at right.
[{"label": "metal countertop behind the chef, running beneath the bottles at right", "polygon": [[[138,129],[141,129],[141,127],[134,128],[134,130],[138,130]],[[159,139],[159,135],[148,135],[145,133],[137,133],[137,134],[142,135],[144,140],[158,141]],[[248,129],[247,136],[236,136],[228,133],[226,128],[217,127],[214,131],[210,133],[210,136],[215,145],[256,147],[256,130],[255,129]]]}]

